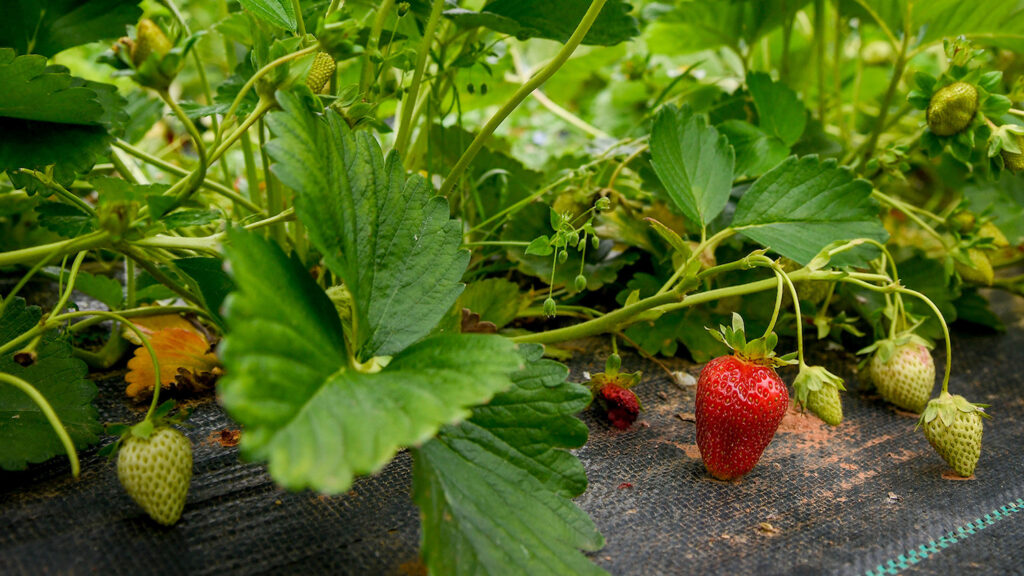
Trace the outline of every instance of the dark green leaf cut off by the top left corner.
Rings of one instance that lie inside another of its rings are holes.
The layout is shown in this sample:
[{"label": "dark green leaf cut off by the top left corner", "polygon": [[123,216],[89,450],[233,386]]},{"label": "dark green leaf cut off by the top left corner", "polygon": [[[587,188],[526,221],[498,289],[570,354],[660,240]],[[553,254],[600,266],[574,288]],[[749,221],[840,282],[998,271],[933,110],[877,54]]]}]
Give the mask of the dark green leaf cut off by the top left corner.
[{"label": "dark green leaf cut off by the top left corner", "polygon": [[142,15],[139,0],[7,0],[0,46],[44,56],[95,40],[125,35]]}]

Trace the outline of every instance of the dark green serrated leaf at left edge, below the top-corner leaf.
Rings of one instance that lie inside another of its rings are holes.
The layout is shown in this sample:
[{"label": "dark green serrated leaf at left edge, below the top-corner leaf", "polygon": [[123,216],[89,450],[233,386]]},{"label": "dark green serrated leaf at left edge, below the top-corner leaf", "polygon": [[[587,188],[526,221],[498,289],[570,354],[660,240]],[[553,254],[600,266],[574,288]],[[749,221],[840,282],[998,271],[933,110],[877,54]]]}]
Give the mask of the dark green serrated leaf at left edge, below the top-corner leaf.
[{"label": "dark green serrated leaf at left edge, below the top-corner leaf", "polygon": [[120,130],[127,119],[116,87],[47,67],[40,55],[0,48],[0,172],[29,192],[42,184],[18,168],[53,166],[54,179],[71,184],[108,153],[110,130]]}]

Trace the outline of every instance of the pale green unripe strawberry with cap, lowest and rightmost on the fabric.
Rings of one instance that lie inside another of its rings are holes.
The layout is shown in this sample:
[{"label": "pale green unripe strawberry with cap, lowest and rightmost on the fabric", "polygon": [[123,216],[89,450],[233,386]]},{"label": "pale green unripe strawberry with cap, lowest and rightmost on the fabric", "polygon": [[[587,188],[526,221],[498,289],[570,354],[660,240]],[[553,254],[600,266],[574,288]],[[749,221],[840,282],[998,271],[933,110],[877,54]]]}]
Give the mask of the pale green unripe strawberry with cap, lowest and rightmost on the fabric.
[{"label": "pale green unripe strawberry with cap, lowest and rightmost on the fabric", "polygon": [[918,421],[932,448],[964,478],[974,475],[981,457],[981,419],[989,417],[984,411],[987,407],[943,392],[928,403]]}]

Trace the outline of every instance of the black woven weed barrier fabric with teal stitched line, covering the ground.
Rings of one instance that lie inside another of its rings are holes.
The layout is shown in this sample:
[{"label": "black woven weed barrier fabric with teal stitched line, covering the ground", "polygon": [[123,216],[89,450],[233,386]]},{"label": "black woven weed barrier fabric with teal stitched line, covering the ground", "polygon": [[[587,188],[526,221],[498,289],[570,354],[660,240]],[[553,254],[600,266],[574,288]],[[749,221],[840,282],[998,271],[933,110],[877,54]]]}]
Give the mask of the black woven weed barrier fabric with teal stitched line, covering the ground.
[{"label": "black woven weed barrier fabric with teal stitched line, covering the ground", "polygon": [[[850,388],[842,425],[791,411],[750,475],[715,481],[695,445],[694,388],[627,356],[624,368],[644,371],[635,389],[647,410],[626,431],[588,411],[578,452],[590,477],[580,504],[607,539],[594,560],[620,575],[1024,574],[1024,300],[996,307],[1007,334],[953,341],[950,389],[992,404],[969,481],[948,479],[914,417],[873,397],[846,353],[828,357]],[[602,365],[597,353],[572,377]],[[123,372],[97,383],[104,420],[142,417],[124,400]],[[62,459],[0,472],[0,574],[424,573],[408,453],[348,494],[288,493],[239,461],[237,426],[215,402],[194,408],[195,477],[176,526],[151,522],[95,449],[78,481]]]}]

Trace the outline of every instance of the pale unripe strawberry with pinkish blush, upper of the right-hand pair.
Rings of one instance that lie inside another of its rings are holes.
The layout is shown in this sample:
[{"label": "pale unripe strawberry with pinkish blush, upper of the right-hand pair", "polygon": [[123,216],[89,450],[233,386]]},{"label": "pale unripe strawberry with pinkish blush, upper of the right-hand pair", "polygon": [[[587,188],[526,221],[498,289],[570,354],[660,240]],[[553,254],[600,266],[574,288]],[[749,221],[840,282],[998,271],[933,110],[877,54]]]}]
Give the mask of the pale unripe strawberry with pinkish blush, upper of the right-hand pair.
[{"label": "pale unripe strawberry with pinkish blush, upper of the right-hand pair", "polygon": [[935,387],[932,354],[913,340],[879,346],[869,374],[883,399],[915,413],[925,409]]}]

